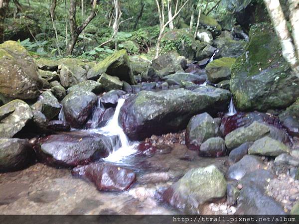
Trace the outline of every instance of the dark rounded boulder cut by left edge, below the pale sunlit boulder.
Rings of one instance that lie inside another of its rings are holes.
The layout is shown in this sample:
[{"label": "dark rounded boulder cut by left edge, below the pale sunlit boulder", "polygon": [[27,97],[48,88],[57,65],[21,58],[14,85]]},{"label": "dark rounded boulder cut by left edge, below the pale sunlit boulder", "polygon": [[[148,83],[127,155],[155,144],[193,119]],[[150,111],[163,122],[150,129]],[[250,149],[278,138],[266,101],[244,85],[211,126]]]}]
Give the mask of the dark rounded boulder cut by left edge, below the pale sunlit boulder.
[{"label": "dark rounded boulder cut by left edge, below the pale sunlit boulder", "polygon": [[0,138],[0,172],[23,168],[30,160],[30,150],[26,139]]}]

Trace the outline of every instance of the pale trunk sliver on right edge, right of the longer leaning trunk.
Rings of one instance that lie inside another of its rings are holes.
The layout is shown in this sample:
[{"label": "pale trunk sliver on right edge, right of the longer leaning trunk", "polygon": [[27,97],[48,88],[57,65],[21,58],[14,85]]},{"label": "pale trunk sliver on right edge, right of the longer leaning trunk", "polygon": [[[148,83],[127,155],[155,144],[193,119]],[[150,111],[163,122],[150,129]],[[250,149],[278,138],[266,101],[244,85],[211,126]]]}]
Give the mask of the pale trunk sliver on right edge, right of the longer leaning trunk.
[{"label": "pale trunk sliver on right edge, right of the longer leaning trunk", "polygon": [[299,60],[299,0],[290,0],[290,21],[297,59]]}]

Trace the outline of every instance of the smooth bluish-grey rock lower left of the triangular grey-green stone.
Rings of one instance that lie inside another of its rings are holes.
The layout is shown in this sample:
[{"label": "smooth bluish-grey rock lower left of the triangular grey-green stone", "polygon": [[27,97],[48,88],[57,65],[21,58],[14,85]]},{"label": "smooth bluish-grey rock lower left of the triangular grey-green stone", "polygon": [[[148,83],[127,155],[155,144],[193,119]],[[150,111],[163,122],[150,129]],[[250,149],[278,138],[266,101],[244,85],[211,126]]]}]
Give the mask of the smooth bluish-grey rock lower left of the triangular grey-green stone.
[{"label": "smooth bluish-grey rock lower left of the triangular grey-green stone", "polygon": [[245,155],[240,161],[228,168],[227,176],[229,179],[240,180],[246,173],[257,169],[263,169],[265,164],[258,157]]}]

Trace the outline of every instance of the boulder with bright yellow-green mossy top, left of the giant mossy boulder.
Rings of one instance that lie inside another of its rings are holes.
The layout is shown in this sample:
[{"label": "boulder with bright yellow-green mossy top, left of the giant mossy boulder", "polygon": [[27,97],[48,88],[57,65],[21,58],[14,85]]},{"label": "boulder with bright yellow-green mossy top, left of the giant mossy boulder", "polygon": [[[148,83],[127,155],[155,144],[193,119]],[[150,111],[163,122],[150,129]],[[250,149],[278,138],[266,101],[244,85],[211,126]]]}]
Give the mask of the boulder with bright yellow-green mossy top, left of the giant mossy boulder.
[{"label": "boulder with bright yellow-green mossy top, left of the giant mossy boulder", "polygon": [[235,61],[235,58],[224,57],[210,62],[206,66],[208,79],[212,83],[219,83],[223,80],[229,80],[231,76],[231,67]]}]

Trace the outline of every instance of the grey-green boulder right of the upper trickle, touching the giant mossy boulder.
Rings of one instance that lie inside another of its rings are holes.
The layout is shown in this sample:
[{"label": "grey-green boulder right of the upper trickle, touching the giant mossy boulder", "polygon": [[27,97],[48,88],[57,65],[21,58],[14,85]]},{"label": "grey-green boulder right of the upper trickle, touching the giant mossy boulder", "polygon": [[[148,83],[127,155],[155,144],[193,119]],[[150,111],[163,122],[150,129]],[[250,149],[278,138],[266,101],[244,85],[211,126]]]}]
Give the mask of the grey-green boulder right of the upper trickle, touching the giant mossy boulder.
[{"label": "grey-green boulder right of the upper trickle, touching the giant mossy boulder", "polygon": [[214,40],[213,46],[219,49],[218,55],[221,57],[237,58],[245,52],[247,42],[236,41],[227,37],[219,37]]}]

